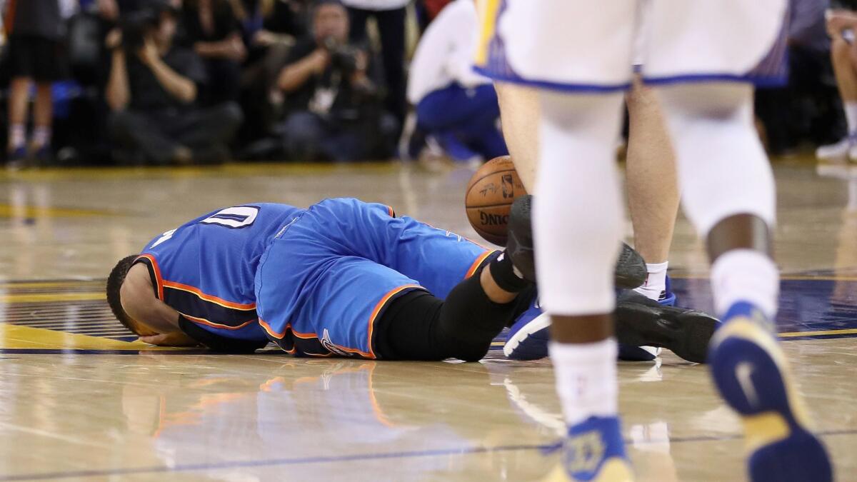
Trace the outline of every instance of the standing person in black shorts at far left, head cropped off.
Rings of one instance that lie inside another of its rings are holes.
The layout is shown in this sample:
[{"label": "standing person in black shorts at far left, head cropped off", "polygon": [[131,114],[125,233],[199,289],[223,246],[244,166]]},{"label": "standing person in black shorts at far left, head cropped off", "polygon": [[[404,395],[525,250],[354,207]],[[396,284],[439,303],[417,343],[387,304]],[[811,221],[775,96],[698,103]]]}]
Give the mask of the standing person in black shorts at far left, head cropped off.
[{"label": "standing person in black shorts at far left, head cropped off", "polygon": [[[51,84],[66,75],[65,25],[59,0],[10,0],[5,14],[11,76],[7,162],[10,168],[20,168],[27,160],[51,155]],[[27,106],[33,82],[33,136],[27,147]]]}]

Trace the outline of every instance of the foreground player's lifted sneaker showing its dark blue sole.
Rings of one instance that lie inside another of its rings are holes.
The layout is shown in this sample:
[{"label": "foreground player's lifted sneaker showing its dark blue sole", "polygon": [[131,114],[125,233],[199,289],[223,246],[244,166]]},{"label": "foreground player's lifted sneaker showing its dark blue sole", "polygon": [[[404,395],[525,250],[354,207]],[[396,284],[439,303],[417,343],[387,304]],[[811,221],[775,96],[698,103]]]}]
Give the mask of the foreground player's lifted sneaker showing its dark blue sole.
[{"label": "foreground player's lifted sneaker showing its dark blue sole", "polygon": [[723,399],[744,423],[747,466],[754,482],[826,482],[833,478],[824,445],[789,374],[770,321],[753,304],[738,302],[711,340],[711,375]]}]

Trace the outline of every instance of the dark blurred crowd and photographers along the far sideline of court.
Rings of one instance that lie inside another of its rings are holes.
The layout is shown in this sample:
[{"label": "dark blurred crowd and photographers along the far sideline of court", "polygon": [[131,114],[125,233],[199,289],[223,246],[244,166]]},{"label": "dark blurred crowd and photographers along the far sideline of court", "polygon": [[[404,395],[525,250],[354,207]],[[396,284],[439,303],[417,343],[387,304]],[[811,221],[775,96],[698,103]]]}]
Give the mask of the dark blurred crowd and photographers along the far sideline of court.
[{"label": "dark blurred crowd and photographers along the far sideline of court", "polygon": [[[791,0],[770,154],[857,160],[857,0]],[[473,0],[0,0],[9,167],[505,154]],[[850,133],[850,135],[849,135]],[[853,151],[853,155],[852,152]]]}]

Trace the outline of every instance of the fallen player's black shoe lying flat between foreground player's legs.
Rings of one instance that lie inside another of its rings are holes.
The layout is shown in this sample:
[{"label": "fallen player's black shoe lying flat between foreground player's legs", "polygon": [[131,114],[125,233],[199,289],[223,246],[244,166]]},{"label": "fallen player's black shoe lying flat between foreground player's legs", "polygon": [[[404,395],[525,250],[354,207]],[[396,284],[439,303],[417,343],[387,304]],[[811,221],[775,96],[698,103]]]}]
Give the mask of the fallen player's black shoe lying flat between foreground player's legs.
[{"label": "fallen player's black shoe lying flat between foreground player's legs", "polygon": [[[624,299],[623,299],[624,298]],[[663,306],[639,295],[616,305],[616,340],[633,346],[660,346],[693,363],[705,363],[720,322],[702,311]]]}]

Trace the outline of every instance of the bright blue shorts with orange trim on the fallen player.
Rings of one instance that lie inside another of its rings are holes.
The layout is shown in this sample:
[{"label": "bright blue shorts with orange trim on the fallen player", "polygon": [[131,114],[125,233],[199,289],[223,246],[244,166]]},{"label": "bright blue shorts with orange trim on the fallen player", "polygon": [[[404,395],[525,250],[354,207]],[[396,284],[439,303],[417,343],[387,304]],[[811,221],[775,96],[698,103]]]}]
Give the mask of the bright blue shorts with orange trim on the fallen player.
[{"label": "bright blue shorts with orange trim on the fallen player", "polygon": [[296,355],[378,358],[375,324],[393,299],[411,290],[446,298],[493,252],[382,204],[328,199],[261,256],[259,323]]}]

